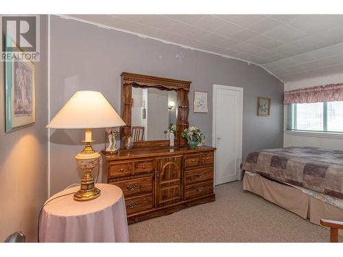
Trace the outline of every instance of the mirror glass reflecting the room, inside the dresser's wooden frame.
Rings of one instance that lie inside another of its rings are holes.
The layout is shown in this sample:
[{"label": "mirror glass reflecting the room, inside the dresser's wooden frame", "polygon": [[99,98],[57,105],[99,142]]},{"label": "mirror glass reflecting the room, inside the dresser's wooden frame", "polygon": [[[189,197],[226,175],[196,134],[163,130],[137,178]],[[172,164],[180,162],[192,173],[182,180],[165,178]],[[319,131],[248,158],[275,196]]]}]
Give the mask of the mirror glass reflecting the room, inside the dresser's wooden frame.
[{"label": "mirror glass reflecting the room, inside the dresser's wooden frame", "polygon": [[138,140],[166,140],[164,133],[176,125],[176,91],[158,88],[132,87],[132,138]]}]

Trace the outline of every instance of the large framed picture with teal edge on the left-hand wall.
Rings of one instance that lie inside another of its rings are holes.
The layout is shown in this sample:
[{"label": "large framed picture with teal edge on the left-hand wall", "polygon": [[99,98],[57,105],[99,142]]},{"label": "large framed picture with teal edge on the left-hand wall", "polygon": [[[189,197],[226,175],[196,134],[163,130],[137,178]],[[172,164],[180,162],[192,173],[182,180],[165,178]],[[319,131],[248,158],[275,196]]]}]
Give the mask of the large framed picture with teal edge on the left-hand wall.
[{"label": "large framed picture with teal edge on the left-hand wall", "polygon": [[33,62],[5,63],[6,132],[35,123],[34,77]]}]

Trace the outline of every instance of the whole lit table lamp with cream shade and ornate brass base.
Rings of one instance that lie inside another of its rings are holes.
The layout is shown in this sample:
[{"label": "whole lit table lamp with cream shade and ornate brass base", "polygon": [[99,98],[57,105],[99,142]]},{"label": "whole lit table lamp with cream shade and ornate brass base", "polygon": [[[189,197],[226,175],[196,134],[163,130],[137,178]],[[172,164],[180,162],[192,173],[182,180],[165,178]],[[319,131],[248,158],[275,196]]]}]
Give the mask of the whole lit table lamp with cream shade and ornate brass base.
[{"label": "whole lit table lamp with cream shade and ornate brass base", "polygon": [[75,193],[76,201],[87,201],[99,197],[100,190],[94,186],[92,170],[99,164],[100,154],[91,143],[92,128],[119,127],[126,125],[104,95],[97,91],[78,91],[47,125],[56,129],[85,129],[84,149],[75,156],[76,164],[84,176],[80,190]]}]

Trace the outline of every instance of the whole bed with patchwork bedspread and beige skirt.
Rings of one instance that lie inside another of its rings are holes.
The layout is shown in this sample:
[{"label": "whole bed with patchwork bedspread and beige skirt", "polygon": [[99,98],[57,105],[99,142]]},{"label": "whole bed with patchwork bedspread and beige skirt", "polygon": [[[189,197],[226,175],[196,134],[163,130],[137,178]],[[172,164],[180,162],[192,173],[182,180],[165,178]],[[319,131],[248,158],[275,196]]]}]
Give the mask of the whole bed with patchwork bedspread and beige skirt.
[{"label": "whole bed with patchwork bedspread and beige skirt", "polygon": [[242,171],[245,191],[317,225],[320,219],[343,221],[343,151],[265,149],[248,154]]}]

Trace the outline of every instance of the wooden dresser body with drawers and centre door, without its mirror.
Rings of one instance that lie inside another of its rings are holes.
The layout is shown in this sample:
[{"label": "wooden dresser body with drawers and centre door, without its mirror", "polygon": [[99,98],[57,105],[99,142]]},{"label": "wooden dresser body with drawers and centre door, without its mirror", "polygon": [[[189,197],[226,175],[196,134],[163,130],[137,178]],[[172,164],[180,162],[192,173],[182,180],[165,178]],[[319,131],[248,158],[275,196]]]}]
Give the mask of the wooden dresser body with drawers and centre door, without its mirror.
[{"label": "wooden dresser body with drawers and centre door, without its mirror", "polygon": [[215,148],[119,150],[103,154],[103,182],[123,191],[128,223],[215,201]]}]

